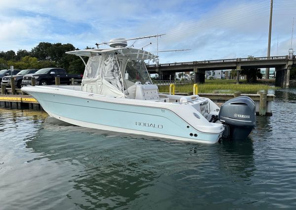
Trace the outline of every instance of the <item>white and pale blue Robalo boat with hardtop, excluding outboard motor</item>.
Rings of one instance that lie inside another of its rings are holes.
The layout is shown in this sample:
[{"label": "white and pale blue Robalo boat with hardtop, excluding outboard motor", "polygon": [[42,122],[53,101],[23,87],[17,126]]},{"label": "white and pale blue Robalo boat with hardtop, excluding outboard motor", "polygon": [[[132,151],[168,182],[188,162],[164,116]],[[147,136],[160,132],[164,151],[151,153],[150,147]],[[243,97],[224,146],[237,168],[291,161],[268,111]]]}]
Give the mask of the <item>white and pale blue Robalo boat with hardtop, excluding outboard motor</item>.
[{"label": "white and pale blue Robalo boat with hardtop, excluding outboard motor", "polygon": [[214,102],[198,95],[158,93],[144,63],[157,56],[122,44],[111,46],[67,52],[89,57],[81,86],[26,86],[22,90],[50,116],[77,126],[188,142],[216,143],[222,137],[222,123],[229,117],[219,121],[220,108]]}]

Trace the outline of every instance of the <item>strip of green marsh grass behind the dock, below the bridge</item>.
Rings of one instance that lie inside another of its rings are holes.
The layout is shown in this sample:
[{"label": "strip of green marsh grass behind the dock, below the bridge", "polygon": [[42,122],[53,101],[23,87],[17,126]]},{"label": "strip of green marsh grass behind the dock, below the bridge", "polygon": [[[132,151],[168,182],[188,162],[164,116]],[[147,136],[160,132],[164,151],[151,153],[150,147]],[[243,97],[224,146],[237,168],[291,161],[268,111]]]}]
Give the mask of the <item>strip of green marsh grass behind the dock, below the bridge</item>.
[{"label": "strip of green marsh grass behind the dock, below the bridge", "polygon": [[[212,93],[218,90],[220,93],[234,93],[241,91],[242,93],[257,93],[260,90],[277,89],[278,87],[270,86],[264,82],[259,84],[247,84],[246,80],[240,80],[240,84],[236,84],[235,80],[206,80],[205,84],[198,84],[199,93]],[[169,92],[169,85],[159,85],[159,92]],[[177,84],[176,92],[192,92],[193,84]]]}]

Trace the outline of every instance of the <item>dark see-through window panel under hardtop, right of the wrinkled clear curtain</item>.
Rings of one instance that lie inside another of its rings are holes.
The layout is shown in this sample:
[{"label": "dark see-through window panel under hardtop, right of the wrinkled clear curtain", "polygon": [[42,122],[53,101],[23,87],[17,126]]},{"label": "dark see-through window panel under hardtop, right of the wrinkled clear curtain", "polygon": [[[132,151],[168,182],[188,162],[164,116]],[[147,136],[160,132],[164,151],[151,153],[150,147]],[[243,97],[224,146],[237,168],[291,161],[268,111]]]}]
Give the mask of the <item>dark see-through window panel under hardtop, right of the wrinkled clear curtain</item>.
[{"label": "dark see-through window panel under hardtop, right of the wrinkled clear curtain", "polygon": [[142,84],[152,84],[143,61],[129,61],[126,64],[124,79],[133,83],[140,81]]}]

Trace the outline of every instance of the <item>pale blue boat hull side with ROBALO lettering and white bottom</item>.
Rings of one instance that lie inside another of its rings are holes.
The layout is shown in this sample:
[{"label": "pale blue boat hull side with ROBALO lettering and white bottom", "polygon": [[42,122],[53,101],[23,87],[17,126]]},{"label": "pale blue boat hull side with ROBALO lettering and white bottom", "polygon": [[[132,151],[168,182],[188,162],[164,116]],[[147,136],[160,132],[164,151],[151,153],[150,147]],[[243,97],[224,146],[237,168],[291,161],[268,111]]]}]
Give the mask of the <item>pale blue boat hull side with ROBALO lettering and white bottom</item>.
[{"label": "pale blue boat hull side with ROBALO lettering and white bottom", "polygon": [[60,93],[27,92],[50,116],[77,126],[210,144],[216,143],[222,134],[200,132],[165,108],[111,103]]}]

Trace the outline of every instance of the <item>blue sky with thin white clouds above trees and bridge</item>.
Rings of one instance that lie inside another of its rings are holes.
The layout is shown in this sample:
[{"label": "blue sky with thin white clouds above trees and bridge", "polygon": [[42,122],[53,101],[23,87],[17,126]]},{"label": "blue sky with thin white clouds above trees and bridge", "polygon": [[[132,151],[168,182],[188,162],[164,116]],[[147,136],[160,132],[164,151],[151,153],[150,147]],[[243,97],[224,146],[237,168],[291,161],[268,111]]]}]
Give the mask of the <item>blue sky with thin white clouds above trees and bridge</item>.
[{"label": "blue sky with thin white clouds above trees and bridge", "polygon": [[[190,49],[159,52],[159,63],[259,57],[267,55],[269,13],[270,0],[0,0],[0,51],[165,34],[128,44]],[[273,0],[271,56],[288,54],[295,16],[296,0]],[[296,19],[294,49],[295,31]]]}]

